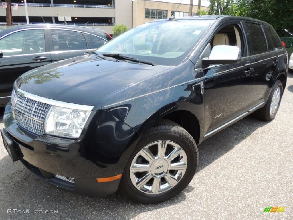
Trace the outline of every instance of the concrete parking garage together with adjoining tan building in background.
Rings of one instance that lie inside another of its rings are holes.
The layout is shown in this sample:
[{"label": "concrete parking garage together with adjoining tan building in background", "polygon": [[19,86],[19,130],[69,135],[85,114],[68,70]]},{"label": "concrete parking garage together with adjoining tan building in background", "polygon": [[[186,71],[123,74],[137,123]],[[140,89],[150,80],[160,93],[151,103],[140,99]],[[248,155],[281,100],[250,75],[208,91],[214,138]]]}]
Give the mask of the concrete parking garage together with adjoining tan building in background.
[{"label": "concrete parking garage together with adjoining tan building in background", "polygon": [[[6,9],[0,2],[0,28],[6,26]],[[26,24],[23,0],[11,0],[13,25]],[[189,5],[147,0],[27,0],[30,23],[64,23],[75,26],[102,28],[113,35],[113,27],[124,24],[127,28],[171,17],[189,16]],[[18,4],[18,9],[13,6]],[[179,7],[178,7],[179,6]],[[205,10],[207,7],[202,6]],[[197,6],[193,6],[197,15]],[[63,18],[60,19],[60,18]]]}]

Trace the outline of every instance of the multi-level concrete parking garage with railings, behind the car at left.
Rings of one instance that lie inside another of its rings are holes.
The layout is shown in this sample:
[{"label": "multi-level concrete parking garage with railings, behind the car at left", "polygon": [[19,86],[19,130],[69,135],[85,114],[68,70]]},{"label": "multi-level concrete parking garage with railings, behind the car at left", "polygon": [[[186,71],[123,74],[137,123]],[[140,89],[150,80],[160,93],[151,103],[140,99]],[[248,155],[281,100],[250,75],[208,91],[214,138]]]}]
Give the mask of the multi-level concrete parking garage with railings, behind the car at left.
[{"label": "multi-level concrete parking garage with railings, behind the car at left", "polygon": [[[4,2],[0,2],[0,27],[6,26]],[[25,24],[24,1],[11,2],[13,24]],[[18,10],[13,10],[16,3]],[[109,34],[118,24],[132,28],[132,0],[27,0],[27,4],[30,23],[64,23],[59,17],[66,17],[71,20],[67,24],[102,28]]]}]

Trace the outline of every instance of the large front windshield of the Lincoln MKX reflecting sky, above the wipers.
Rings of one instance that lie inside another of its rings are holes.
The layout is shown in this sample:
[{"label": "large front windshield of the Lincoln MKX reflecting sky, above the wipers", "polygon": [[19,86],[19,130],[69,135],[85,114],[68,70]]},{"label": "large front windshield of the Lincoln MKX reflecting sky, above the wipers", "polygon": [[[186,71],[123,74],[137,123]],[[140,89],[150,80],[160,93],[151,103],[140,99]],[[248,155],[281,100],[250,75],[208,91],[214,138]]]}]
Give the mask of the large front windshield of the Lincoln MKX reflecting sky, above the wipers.
[{"label": "large front windshield of the Lincoln MKX reflecting sky, above the wipers", "polygon": [[96,53],[121,54],[157,65],[179,65],[213,22],[178,20],[145,23],[110,40]]}]

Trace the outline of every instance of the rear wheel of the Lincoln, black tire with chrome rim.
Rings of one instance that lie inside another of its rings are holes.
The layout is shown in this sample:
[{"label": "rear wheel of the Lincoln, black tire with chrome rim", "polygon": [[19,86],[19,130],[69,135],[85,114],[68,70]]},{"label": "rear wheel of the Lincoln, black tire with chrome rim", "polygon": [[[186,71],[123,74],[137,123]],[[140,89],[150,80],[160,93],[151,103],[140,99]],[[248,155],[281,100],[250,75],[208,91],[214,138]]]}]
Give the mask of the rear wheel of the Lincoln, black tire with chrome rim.
[{"label": "rear wheel of the Lincoln, black tire with chrome rim", "polygon": [[272,91],[268,100],[261,109],[255,111],[256,118],[263,121],[272,121],[279,109],[283,95],[283,85],[280,80],[277,80],[272,87]]}]

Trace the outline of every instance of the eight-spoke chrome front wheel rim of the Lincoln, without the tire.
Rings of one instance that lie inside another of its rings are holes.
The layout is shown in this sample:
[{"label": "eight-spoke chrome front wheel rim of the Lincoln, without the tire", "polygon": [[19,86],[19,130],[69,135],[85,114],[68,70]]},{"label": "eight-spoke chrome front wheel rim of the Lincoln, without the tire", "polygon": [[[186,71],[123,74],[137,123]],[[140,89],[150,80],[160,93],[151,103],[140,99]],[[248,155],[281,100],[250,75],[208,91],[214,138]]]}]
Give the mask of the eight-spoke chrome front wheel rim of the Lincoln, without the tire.
[{"label": "eight-spoke chrome front wheel rim of the Lincoln, without the tire", "polygon": [[130,179],[140,191],[159,194],[176,186],[186,168],[184,149],[173,141],[160,140],[146,145],[135,155]]}]

